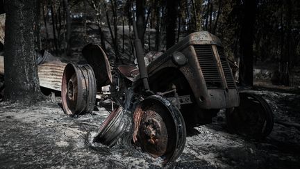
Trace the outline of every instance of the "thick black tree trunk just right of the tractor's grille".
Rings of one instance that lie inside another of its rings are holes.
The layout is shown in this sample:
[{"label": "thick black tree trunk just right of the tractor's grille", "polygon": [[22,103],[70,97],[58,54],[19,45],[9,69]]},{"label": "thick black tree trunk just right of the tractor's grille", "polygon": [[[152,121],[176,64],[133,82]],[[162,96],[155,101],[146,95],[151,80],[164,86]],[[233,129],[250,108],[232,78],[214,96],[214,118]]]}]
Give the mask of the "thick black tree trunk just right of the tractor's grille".
[{"label": "thick black tree trunk just right of the tractor's grille", "polygon": [[257,0],[244,1],[244,19],[240,36],[240,83],[253,86],[253,30],[256,20]]}]

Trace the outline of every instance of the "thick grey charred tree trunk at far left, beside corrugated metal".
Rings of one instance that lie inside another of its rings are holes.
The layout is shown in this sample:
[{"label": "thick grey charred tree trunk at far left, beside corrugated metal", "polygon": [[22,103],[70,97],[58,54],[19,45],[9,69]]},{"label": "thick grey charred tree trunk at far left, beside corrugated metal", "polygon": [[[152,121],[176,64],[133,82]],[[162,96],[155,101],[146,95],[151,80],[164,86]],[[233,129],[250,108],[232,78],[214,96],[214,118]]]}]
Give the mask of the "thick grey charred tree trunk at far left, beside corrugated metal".
[{"label": "thick grey charred tree trunk at far left, beside corrugated metal", "polygon": [[41,98],[33,28],[36,3],[5,1],[4,99],[12,102],[33,103]]}]

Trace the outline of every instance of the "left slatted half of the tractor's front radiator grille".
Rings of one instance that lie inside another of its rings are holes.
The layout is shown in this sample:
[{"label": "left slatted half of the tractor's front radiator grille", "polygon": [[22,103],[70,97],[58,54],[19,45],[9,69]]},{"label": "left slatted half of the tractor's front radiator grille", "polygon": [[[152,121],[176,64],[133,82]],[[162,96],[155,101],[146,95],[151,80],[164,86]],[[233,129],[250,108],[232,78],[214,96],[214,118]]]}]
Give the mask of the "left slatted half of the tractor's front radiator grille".
[{"label": "left slatted half of the tractor's front radiator grille", "polygon": [[222,88],[221,77],[211,45],[194,45],[197,58],[208,89]]}]

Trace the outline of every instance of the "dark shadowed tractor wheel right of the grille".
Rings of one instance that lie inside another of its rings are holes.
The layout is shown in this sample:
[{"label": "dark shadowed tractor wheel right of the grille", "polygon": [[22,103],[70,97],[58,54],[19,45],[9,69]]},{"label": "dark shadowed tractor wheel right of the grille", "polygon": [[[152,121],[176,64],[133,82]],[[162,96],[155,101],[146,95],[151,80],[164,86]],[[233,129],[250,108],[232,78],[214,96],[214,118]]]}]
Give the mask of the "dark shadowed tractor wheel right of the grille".
[{"label": "dark shadowed tractor wheel right of the grille", "polygon": [[228,129],[248,138],[267,137],[274,125],[273,112],[262,97],[240,92],[240,106],[226,110]]}]

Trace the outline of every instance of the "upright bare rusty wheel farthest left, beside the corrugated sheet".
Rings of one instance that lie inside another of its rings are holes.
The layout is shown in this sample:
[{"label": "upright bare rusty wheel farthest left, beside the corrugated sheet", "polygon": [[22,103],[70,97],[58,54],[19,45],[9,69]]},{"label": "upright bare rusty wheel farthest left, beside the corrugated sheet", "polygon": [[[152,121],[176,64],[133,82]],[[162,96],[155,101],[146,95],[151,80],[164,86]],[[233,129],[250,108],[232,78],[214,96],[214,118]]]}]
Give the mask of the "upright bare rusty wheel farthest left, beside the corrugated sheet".
[{"label": "upright bare rusty wheel farthest left, beside the corrugated sheet", "polygon": [[67,115],[90,113],[96,102],[96,79],[90,65],[68,63],[63,72],[62,103]]}]

